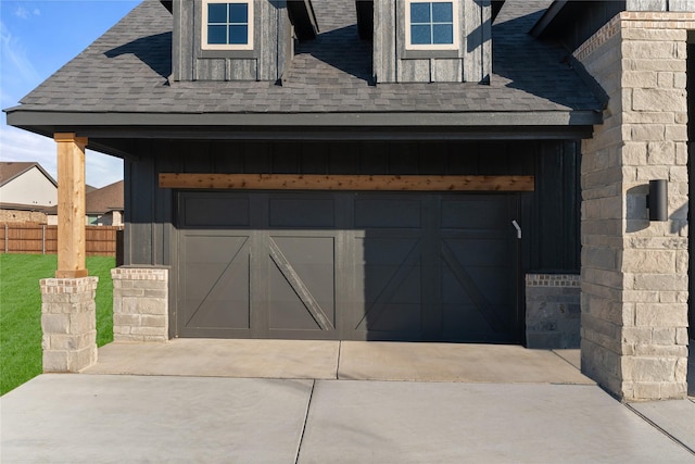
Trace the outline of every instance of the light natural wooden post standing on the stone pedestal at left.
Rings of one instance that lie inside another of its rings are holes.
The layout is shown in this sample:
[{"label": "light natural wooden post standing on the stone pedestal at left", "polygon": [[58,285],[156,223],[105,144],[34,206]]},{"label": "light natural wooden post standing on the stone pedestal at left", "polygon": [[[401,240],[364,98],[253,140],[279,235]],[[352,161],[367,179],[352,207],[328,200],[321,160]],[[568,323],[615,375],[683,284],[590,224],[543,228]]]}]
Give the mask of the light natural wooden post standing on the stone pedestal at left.
[{"label": "light natural wooden post standing on the stone pedestal at left", "polygon": [[54,134],[58,143],[58,271],[56,278],[87,277],[85,266],[86,137]]}]

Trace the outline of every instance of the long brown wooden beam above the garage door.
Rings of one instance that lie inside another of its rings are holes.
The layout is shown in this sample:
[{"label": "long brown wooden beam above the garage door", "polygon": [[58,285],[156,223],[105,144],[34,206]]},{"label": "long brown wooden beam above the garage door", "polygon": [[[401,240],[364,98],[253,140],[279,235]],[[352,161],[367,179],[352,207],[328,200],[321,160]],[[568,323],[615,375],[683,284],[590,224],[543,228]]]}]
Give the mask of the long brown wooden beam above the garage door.
[{"label": "long brown wooden beam above the garage door", "polygon": [[533,176],[160,174],[161,188],[236,190],[533,191]]}]

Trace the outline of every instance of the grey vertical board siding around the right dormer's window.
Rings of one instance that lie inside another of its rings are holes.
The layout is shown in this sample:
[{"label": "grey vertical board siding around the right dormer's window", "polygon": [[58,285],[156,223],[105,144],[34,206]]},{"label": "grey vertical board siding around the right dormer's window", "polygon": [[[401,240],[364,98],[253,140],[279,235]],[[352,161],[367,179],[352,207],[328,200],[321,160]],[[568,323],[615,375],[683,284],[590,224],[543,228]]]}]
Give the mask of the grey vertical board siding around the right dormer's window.
[{"label": "grey vertical board siding around the right dormer's window", "polygon": [[[402,0],[375,0],[374,73],[377,83],[484,83],[492,71],[490,0],[460,0],[458,53],[405,53]],[[408,58],[406,58],[406,55]]]}]

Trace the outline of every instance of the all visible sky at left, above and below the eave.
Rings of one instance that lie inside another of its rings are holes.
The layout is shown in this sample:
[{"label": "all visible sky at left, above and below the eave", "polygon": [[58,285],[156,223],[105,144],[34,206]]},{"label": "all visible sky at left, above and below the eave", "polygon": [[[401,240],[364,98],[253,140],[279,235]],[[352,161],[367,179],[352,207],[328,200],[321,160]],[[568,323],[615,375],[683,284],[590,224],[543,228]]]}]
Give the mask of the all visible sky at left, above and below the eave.
[{"label": "all visible sky at left, above and below the eave", "polygon": [[[140,0],[0,0],[0,106],[18,101],[132,10]],[[53,177],[52,139],[0,124],[1,161],[37,161]],[[94,151],[86,155],[87,184],[123,178],[123,162]]]}]

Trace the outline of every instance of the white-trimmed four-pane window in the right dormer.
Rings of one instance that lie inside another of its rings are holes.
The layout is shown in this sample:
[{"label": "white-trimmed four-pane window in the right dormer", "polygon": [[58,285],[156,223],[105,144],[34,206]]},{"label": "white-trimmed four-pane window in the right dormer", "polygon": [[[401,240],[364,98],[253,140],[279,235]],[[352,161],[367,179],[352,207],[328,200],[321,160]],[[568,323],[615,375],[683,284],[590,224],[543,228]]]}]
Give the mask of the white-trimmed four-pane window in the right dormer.
[{"label": "white-trimmed four-pane window in the right dormer", "polygon": [[458,3],[457,0],[406,0],[406,49],[458,49]]}]

